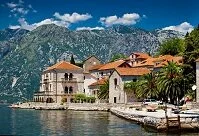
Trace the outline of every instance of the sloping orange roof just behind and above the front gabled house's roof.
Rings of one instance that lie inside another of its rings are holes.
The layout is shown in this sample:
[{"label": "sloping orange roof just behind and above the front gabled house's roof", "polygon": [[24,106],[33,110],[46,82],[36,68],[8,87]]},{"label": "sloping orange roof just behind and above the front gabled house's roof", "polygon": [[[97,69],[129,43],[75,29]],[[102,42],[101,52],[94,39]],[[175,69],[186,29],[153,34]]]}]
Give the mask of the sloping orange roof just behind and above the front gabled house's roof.
[{"label": "sloping orange roof just behind and above the front gabled house's roof", "polygon": [[114,62],[110,62],[110,63],[104,64],[104,66],[102,66],[101,68],[99,68],[99,70],[115,69],[115,68],[119,67],[120,65],[122,65],[124,63],[126,63],[124,60],[117,60],[117,61],[114,61]]}]

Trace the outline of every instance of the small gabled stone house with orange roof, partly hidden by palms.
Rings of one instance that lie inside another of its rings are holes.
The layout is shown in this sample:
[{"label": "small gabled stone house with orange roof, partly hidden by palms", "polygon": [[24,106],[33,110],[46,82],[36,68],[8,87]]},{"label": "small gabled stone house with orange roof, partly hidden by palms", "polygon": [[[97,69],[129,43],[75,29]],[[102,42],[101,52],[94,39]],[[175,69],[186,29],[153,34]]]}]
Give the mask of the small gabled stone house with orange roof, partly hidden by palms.
[{"label": "small gabled stone house with orange roof, partly hidden by palms", "polygon": [[124,91],[125,82],[136,81],[140,76],[150,73],[147,68],[116,68],[109,77],[109,103],[135,102],[133,94]]}]

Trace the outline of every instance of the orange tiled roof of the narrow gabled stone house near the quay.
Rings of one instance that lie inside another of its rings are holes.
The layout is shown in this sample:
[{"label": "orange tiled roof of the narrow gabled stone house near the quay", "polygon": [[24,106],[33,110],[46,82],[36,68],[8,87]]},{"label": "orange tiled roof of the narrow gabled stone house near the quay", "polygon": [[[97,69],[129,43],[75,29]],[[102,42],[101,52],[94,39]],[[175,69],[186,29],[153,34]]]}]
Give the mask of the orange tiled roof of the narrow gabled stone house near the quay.
[{"label": "orange tiled roof of the narrow gabled stone house near the quay", "polygon": [[116,68],[116,71],[121,76],[141,76],[151,72],[147,68]]}]

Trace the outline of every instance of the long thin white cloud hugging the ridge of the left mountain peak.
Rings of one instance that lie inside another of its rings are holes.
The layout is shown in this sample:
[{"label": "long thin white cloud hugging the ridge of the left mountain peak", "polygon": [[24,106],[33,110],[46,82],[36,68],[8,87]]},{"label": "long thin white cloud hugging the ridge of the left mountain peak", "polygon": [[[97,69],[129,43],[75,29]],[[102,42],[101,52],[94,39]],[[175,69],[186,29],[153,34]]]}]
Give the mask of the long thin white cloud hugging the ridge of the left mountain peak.
[{"label": "long thin white cloud hugging the ridge of the left mountain peak", "polygon": [[18,29],[18,28],[21,28],[21,29],[26,29],[26,30],[29,30],[29,31],[32,31],[34,29],[36,29],[37,27],[39,26],[42,26],[42,25],[47,25],[47,24],[55,24],[57,26],[63,26],[63,27],[68,27],[69,26],[69,23],[67,22],[63,22],[63,21],[57,21],[57,20],[54,20],[54,19],[45,19],[41,22],[38,22],[38,23],[34,23],[34,24],[29,24],[25,18],[20,18],[18,20],[19,24],[20,25],[16,25],[16,26],[9,26],[10,29]]}]

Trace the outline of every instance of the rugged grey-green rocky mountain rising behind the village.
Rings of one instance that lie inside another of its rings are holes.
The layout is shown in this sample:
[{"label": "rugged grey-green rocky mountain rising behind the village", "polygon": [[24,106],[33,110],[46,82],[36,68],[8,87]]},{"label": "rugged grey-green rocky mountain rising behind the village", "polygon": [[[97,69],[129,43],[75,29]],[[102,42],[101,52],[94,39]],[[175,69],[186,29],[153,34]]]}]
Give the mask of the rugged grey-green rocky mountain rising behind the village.
[{"label": "rugged grey-green rocky mountain rising behind the village", "polygon": [[[69,60],[71,54],[76,62],[90,55],[107,62],[116,53],[153,54],[159,47],[159,36],[161,32],[127,26],[72,31],[53,24],[20,35],[4,36],[9,37],[3,42],[10,48],[0,60],[0,99],[32,98],[33,92],[39,89],[41,72],[59,60]],[[178,37],[178,34],[172,36]]]}]

